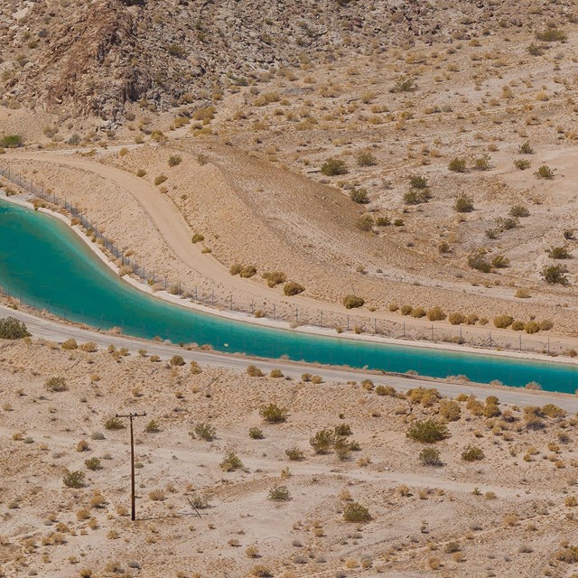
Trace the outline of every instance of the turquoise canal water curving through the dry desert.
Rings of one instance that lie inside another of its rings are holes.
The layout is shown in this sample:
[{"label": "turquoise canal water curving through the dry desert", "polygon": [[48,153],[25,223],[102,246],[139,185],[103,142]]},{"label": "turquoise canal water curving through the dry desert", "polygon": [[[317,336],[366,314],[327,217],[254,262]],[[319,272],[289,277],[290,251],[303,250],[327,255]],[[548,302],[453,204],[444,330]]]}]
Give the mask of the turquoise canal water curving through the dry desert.
[{"label": "turquoise canal water curving through the dry desert", "polygon": [[0,286],[36,308],[126,335],[175,343],[209,343],[215,350],[277,359],[349,365],[445,378],[465,375],[510,386],[537,381],[544,389],[573,393],[578,368],[560,363],[501,358],[303,334],[230,321],[144,294],[113,275],[58,219],[0,200]]}]

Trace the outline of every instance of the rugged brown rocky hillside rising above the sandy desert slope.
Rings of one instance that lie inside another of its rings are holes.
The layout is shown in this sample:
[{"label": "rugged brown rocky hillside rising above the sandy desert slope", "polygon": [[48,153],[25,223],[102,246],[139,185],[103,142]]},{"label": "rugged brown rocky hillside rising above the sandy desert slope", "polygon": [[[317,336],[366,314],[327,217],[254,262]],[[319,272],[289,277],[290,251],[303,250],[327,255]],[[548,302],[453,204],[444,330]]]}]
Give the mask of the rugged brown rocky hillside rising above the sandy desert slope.
[{"label": "rugged brown rocky hillside rising above the sandy desert slope", "polygon": [[567,23],[568,10],[528,0],[5,0],[0,102],[119,120],[130,102],[191,104],[310,60]]}]

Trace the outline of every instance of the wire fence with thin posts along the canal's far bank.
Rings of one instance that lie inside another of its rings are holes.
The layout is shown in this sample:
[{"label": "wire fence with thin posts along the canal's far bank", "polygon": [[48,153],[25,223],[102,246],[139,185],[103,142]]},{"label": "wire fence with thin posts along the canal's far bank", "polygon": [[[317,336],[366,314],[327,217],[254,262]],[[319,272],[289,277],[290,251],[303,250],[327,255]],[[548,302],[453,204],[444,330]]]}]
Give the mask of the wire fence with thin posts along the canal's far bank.
[{"label": "wire fence with thin posts along the canal's far bank", "polygon": [[[390,339],[466,344],[480,349],[531,351],[554,356],[564,355],[569,351],[567,343],[564,343],[563,340],[551,340],[545,333],[527,337],[520,332],[511,331],[511,337],[506,337],[503,334],[497,336],[492,335],[490,330],[480,332],[480,327],[471,331],[471,327],[468,325],[448,327],[433,325],[433,323],[429,325],[423,322],[396,322],[353,312],[333,312],[300,307],[291,303],[256,303],[254,299],[243,299],[240,296],[236,298],[233,293],[224,295],[222,287],[211,287],[208,284],[186,287],[183,286],[181,280],[170,279],[168,275],[161,275],[154,269],[147,268],[135,255],[127,254],[126,248],[118,247],[114,241],[102,233],[98,224],[92,222],[83,210],[79,209],[77,203],[67,197],[57,195],[54,191],[45,189],[42,184],[25,178],[22,173],[14,172],[9,166],[0,166],[0,175],[32,195],[35,208],[42,206],[38,200],[43,200],[57,210],[66,211],[70,215],[71,222],[80,225],[85,230],[87,237],[98,243],[104,253],[115,261],[121,275],[135,275],[142,283],[148,284],[155,291],[164,290],[191,303],[199,303],[220,311],[238,312],[251,317],[283,320],[289,322],[292,327],[308,325],[324,330],[330,329],[337,333],[355,332],[357,334],[379,335]],[[6,194],[14,193],[15,191],[6,191]],[[17,295],[13,296],[17,297]],[[31,306],[39,305],[39,303],[28,304]],[[50,303],[48,303],[48,309],[50,310]],[[62,315],[62,312],[59,314]],[[66,310],[63,316],[67,317]],[[102,319],[98,323],[98,319],[89,320],[81,312],[77,312],[76,316],[69,312],[68,318],[72,321],[87,322],[96,327],[102,327],[104,324]],[[167,335],[170,335],[170,329],[167,329]]]}]

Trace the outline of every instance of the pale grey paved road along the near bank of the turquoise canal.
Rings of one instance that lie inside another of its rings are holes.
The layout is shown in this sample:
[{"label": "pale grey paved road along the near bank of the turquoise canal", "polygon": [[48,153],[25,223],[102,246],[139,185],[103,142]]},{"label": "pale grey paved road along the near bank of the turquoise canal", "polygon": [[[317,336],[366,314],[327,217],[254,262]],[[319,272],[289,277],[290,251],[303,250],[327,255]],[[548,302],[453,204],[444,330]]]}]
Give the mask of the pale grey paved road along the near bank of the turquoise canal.
[{"label": "pale grey paved road along the near bank of the turquoise canal", "polygon": [[441,380],[408,378],[406,376],[389,376],[381,375],[368,371],[356,369],[329,368],[321,366],[312,366],[305,363],[287,361],[285,359],[255,359],[246,358],[240,355],[226,355],[210,351],[200,350],[183,350],[182,348],[167,344],[157,343],[155,341],[139,340],[132,337],[123,337],[110,335],[98,331],[91,331],[67,325],[65,323],[53,322],[51,320],[36,317],[27,312],[14,311],[13,309],[0,305],[0,317],[12,316],[20,319],[33,337],[43,338],[52,341],[64,341],[73,338],[80,343],[94,341],[101,348],[107,348],[109,345],[115,345],[117,348],[126,347],[131,352],[137,352],[140,349],[147,350],[149,355],[158,355],[162,359],[170,359],[173,355],[182,355],[186,361],[197,361],[201,365],[245,370],[251,363],[256,363],[264,371],[270,371],[274,368],[281,368],[284,375],[292,378],[300,378],[305,372],[320,375],[325,381],[348,381],[371,378],[378,384],[387,384],[406,391],[411,387],[436,387],[443,396],[455,396],[458,393],[474,394],[475,396],[485,397],[489,395],[499,396],[500,401],[520,405],[520,406],[542,406],[547,403],[554,403],[557,406],[571,413],[578,412],[578,397],[566,394],[556,394],[545,391],[527,391],[525,389],[508,388],[508,387],[489,387],[479,384],[455,384]]}]

